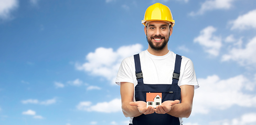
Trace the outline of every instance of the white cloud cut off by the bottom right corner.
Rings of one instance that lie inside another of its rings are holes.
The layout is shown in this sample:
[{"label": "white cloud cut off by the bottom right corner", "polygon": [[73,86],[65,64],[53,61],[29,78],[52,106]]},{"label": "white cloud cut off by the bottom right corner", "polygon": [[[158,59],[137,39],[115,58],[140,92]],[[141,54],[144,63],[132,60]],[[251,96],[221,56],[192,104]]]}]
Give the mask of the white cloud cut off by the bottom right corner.
[{"label": "white cloud cut off by the bottom right corner", "polygon": [[255,125],[256,124],[256,113],[248,113],[242,115],[240,118],[234,118],[232,120],[225,119],[221,121],[211,122],[210,125]]}]

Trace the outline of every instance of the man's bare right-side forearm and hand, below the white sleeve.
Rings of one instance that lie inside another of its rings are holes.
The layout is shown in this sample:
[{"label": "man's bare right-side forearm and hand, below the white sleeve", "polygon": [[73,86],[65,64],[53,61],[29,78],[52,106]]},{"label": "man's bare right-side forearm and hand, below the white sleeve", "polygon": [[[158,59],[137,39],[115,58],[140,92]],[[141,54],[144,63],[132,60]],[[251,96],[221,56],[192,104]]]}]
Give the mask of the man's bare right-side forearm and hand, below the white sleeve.
[{"label": "man's bare right-side forearm and hand, below the white sleeve", "polygon": [[[163,102],[162,105],[156,107],[155,112],[158,114],[169,114],[174,117],[188,118],[192,111],[193,97],[194,97],[194,85],[182,85],[181,99],[182,102]],[[166,104],[166,105],[165,105]]]}]

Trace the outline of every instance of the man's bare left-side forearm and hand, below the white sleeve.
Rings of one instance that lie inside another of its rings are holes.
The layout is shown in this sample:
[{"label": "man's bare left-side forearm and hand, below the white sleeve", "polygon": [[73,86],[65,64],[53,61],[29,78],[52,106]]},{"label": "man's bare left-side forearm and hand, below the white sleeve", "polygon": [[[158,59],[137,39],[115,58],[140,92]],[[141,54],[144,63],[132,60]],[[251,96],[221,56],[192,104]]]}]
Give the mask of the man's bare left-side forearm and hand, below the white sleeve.
[{"label": "man's bare left-side forearm and hand, below the white sleeve", "polygon": [[154,108],[151,106],[146,107],[146,102],[133,102],[133,83],[121,82],[120,93],[122,98],[122,110],[125,117],[137,117],[142,114],[154,113]]}]

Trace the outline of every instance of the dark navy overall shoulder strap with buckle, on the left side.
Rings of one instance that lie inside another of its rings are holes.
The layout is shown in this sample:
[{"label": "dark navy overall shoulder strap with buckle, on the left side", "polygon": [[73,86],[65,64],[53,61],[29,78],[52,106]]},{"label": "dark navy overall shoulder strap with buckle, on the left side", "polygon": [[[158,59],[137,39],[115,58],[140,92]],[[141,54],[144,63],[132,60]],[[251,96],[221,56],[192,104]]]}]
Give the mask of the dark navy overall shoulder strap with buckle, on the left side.
[{"label": "dark navy overall shoulder strap with buckle, on the left side", "polygon": [[133,57],[134,57],[135,74],[136,74],[137,81],[138,81],[138,83],[143,83],[140,55],[136,54]]}]

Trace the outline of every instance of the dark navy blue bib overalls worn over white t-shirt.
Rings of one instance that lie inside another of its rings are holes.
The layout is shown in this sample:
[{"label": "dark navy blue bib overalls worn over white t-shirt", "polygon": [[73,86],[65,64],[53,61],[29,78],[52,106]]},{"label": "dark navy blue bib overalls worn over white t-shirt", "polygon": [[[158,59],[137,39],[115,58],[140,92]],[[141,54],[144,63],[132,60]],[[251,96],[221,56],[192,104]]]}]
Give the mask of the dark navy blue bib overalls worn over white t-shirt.
[{"label": "dark navy blue bib overalls worn over white t-shirt", "polygon": [[[146,102],[146,93],[162,93],[162,103],[164,101],[180,100],[180,88],[178,86],[180,64],[182,56],[176,55],[175,68],[173,73],[172,84],[144,84],[143,75],[141,71],[140,55],[134,55],[135,72],[138,84],[135,86],[135,101]],[[133,125],[150,125],[150,124],[161,124],[161,125],[179,125],[179,118],[171,116],[169,114],[148,114],[140,115],[133,118]]]}]

